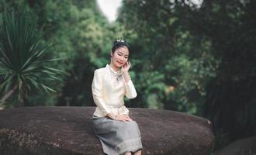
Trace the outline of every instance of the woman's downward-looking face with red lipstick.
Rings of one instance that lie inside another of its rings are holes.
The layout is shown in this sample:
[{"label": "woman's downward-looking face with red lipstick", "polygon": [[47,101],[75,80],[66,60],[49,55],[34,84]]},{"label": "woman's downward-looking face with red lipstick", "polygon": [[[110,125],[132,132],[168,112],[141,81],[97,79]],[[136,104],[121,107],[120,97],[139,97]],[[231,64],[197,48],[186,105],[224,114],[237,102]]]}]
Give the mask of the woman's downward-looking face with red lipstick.
[{"label": "woman's downward-looking face with red lipstick", "polygon": [[119,47],[114,51],[114,53],[111,52],[111,57],[112,64],[116,67],[122,67],[128,60],[129,50],[127,47]]}]

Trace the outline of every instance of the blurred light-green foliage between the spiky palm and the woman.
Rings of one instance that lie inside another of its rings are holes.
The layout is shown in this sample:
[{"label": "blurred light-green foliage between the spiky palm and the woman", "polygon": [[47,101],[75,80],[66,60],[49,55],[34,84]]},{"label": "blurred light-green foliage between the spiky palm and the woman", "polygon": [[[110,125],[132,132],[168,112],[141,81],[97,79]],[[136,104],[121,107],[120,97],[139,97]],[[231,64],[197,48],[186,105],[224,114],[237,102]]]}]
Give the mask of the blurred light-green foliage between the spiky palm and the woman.
[{"label": "blurred light-green foliage between the spiky palm and the woman", "polygon": [[[93,71],[109,63],[112,40],[123,37],[124,27],[109,25],[95,1],[1,1],[1,9],[25,8],[39,19],[43,42],[52,43],[43,58],[61,57],[51,66],[68,73],[65,82],[47,81],[56,94],[31,91],[26,105],[94,105],[91,94]],[[15,104],[15,101],[10,104]]]}]

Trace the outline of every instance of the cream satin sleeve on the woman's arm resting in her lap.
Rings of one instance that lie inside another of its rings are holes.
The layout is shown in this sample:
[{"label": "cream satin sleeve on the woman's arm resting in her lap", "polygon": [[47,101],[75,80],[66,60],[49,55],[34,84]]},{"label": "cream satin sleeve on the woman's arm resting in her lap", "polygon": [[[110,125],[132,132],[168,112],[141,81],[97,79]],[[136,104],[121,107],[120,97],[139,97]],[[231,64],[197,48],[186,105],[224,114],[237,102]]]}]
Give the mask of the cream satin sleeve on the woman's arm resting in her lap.
[{"label": "cream satin sleeve on the woman's arm resting in her lap", "polygon": [[111,110],[107,107],[106,103],[104,102],[102,96],[102,77],[101,74],[99,74],[99,71],[94,72],[94,77],[92,80],[92,97],[95,102],[95,104],[102,110],[102,112],[107,115],[111,112]]}]

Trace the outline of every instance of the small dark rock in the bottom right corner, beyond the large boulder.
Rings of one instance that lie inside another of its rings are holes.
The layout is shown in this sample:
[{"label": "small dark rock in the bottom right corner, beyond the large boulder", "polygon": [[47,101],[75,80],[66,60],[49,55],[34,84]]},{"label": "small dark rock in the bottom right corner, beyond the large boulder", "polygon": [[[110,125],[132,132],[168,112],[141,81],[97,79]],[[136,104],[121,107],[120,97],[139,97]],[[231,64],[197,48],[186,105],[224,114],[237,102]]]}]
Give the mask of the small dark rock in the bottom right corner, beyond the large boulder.
[{"label": "small dark rock in the bottom right corner, beyond the large boulder", "polygon": [[218,150],[216,155],[255,155],[256,154],[256,136],[237,140]]}]

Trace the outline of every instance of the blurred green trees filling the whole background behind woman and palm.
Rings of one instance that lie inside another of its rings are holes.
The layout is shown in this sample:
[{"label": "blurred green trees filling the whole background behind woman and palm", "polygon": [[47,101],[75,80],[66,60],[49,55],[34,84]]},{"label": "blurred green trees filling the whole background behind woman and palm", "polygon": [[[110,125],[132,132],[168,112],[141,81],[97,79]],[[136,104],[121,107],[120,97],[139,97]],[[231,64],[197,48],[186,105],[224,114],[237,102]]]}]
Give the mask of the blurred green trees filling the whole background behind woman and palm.
[{"label": "blurred green trees filling the whole background behind woman and palm", "polygon": [[56,93],[31,89],[22,105],[14,93],[3,108],[94,106],[93,71],[109,63],[112,41],[124,38],[138,93],[128,107],[208,118],[216,149],[255,136],[255,1],[124,0],[111,23],[92,0],[0,0],[0,12],[10,8],[35,17],[41,43],[51,43],[42,59],[63,58],[49,65],[67,74],[47,81]]}]

